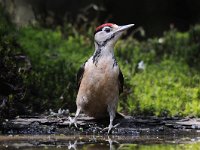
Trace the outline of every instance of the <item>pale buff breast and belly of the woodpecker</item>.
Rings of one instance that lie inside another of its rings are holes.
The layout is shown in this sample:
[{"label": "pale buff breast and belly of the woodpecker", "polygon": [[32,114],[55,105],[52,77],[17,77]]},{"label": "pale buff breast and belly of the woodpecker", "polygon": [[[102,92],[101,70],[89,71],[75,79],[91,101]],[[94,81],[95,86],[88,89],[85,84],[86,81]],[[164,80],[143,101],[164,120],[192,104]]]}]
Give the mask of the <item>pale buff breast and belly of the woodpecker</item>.
[{"label": "pale buff breast and belly of the woodpecker", "polygon": [[98,64],[88,61],[80,84],[77,105],[89,116],[105,116],[107,106],[118,100],[118,66],[112,59],[100,59]]}]

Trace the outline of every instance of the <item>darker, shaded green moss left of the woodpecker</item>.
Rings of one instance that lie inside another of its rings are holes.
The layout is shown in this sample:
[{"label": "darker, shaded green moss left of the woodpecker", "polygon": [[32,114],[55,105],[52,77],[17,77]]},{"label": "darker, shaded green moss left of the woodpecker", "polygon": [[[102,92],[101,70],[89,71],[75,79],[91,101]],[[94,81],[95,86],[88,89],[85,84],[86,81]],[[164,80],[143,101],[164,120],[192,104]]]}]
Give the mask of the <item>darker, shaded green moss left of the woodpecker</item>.
[{"label": "darker, shaded green moss left of the woodpecker", "polygon": [[76,71],[91,52],[87,39],[65,38],[60,29],[26,27],[19,31],[18,42],[32,64],[25,103],[33,111],[75,109]]}]

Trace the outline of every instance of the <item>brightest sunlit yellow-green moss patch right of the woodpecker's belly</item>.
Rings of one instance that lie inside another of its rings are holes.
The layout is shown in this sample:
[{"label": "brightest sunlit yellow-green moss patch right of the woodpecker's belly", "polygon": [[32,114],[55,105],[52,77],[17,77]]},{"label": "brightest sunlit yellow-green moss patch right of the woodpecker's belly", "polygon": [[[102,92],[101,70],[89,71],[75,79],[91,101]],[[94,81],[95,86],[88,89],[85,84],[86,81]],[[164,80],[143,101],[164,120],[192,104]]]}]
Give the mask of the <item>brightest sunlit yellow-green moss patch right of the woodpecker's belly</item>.
[{"label": "brightest sunlit yellow-green moss patch right of the woodpecker's belly", "polygon": [[164,60],[131,78],[129,112],[156,116],[200,116],[200,74],[183,63]]}]

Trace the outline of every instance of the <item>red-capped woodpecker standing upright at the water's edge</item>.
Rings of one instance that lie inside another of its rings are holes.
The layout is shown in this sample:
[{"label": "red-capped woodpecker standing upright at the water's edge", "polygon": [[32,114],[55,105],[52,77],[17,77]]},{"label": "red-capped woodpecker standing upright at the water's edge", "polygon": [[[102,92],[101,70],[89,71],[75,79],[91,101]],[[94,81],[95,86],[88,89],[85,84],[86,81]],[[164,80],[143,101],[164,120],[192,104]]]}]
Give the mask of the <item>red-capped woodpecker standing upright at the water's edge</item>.
[{"label": "red-capped woodpecker standing upright at the water's edge", "polygon": [[122,33],[134,24],[118,26],[105,23],[94,33],[95,52],[77,73],[78,94],[75,117],[69,117],[76,125],[80,112],[94,118],[110,117],[107,127],[110,133],[116,115],[119,94],[123,92],[123,74],[114,56],[114,46]]}]

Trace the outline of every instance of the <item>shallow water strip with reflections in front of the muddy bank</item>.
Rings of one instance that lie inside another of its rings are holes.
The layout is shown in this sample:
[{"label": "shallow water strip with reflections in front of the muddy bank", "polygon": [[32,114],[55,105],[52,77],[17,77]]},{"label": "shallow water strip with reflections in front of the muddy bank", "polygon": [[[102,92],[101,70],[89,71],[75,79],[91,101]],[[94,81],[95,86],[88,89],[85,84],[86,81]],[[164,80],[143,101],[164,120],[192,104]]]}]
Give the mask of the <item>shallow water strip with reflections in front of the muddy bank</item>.
[{"label": "shallow water strip with reflections in front of the muddy bank", "polygon": [[2,135],[0,150],[200,150],[196,136]]}]

